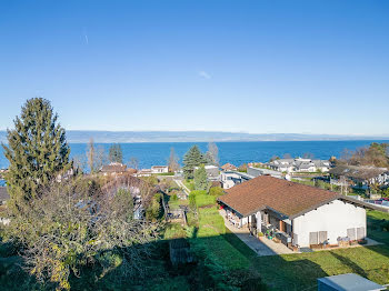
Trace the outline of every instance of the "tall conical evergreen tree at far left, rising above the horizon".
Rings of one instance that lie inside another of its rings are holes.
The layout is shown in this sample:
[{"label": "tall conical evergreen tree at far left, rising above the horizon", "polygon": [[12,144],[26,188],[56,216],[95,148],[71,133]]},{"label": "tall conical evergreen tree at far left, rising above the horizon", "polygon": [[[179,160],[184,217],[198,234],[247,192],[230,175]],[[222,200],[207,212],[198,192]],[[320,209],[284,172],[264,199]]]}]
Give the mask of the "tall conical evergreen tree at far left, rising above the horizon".
[{"label": "tall conical evergreen tree at far left, rising above the horizon", "polygon": [[40,187],[68,171],[71,163],[64,129],[48,100],[28,100],[13,122],[14,129],[8,130],[8,146],[2,147],[9,160],[8,190],[11,202],[18,205],[34,198]]}]

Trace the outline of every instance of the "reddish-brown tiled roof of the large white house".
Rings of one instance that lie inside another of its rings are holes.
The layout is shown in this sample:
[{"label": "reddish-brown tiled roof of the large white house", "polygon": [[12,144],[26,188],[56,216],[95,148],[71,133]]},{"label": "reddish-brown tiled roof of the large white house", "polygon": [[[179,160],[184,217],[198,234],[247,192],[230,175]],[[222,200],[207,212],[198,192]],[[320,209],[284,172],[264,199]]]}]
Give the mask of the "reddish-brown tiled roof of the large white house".
[{"label": "reddish-brown tiled roof of the large white house", "polygon": [[331,191],[270,175],[260,175],[226,192],[219,201],[243,217],[269,209],[291,219],[340,197]]}]

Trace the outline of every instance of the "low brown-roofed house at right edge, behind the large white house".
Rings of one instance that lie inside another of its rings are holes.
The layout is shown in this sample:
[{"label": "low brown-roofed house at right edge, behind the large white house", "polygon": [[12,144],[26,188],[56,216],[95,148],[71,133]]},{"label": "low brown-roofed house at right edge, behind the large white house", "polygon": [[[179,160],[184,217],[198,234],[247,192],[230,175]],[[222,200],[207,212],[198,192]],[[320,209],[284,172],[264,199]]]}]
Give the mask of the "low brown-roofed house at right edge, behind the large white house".
[{"label": "low brown-roofed house at right edge, behind the large white house", "polygon": [[332,184],[371,185],[389,184],[389,171],[387,168],[367,165],[338,165],[329,171]]}]

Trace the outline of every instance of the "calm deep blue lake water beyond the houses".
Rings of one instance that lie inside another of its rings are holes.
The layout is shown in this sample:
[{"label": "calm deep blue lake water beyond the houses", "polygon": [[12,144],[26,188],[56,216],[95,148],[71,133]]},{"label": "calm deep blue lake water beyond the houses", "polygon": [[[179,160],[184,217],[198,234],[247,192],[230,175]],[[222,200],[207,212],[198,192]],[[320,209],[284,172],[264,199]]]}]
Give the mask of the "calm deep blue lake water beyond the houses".
[{"label": "calm deep blue lake water beyond the houses", "polygon": [[[282,157],[290,153],[292,157],[310,152],[317,159],[329,159],[331,155],[340,157],[345,149],[355,150],[369,146],[371,142],[387,142],[380,140],[352,140],[352,141],[256,141],[256,142],[217,142],[219,148],[220,163],[226,162],[240,165],[247,162],[266,162],[273,155]],[[139,160],[140,168],[150,168],[153,164],[167,164],[170,148],[182,161],[182,155],[188,149],[198,144],[202,151],[207,150],[207,142],[147,142],[147,143],[121,143],[124,162],[131,157]],[[106,152],[110,143],[97,143],[103,147]],[[87,143],[70,143],[71,155],[86,158]],[[0,151],[0,168],[7,168],[8,160]]]}]

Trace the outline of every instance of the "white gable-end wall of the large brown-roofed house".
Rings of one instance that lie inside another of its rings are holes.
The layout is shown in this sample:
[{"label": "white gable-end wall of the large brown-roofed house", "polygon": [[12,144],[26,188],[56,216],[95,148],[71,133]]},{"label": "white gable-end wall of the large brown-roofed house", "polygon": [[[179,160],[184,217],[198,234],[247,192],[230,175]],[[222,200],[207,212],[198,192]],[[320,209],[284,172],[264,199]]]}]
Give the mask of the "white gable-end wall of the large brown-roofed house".
[{"label": "white gable-end wall of the large brown-roofed house", "polygon": [[366,235],[366,210],[340,200],[293,219],[300,247],[309,247],[309,232],[327,231],[328,242],[336,244],[338,237],[347,237],[347,229],[361,227]]}]

